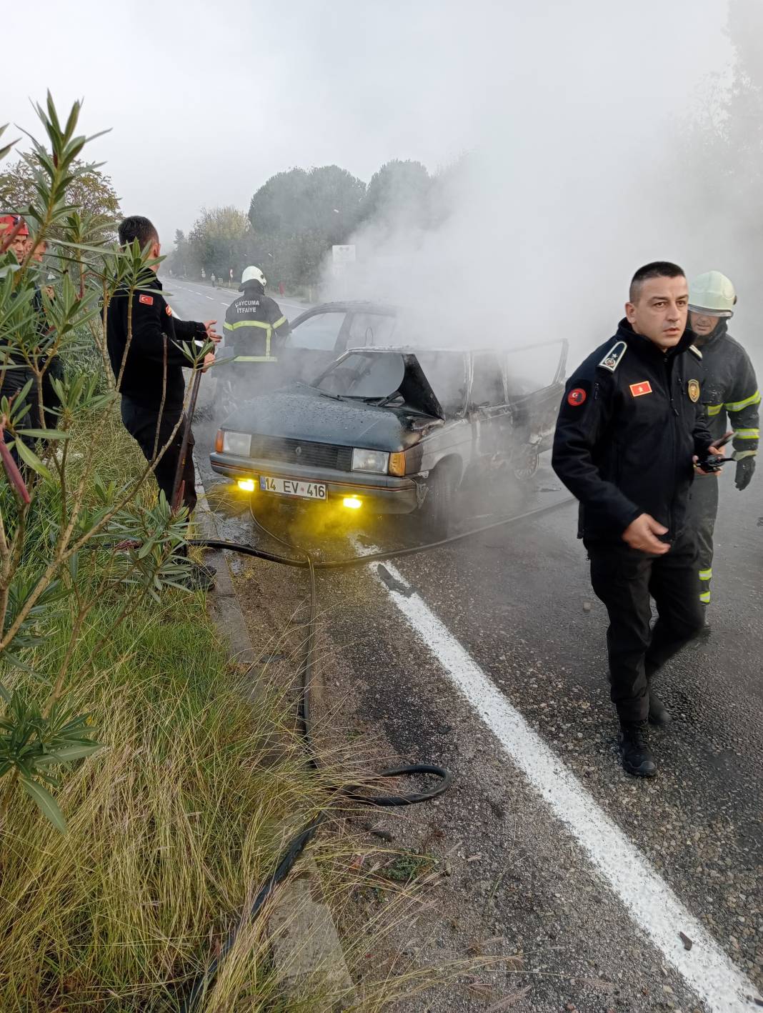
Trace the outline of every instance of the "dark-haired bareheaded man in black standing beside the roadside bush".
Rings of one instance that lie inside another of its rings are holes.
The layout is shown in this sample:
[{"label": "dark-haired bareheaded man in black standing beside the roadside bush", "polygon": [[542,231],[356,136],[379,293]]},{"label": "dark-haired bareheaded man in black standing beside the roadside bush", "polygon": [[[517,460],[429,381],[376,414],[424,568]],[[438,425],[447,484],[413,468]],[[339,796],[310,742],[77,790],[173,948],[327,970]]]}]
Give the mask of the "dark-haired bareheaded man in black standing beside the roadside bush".
[{"label": "dark-haired bareheaded man in black standing beside the roadside bush", "polygon": [[[159,256],[159,235],[147,218],[126,218],[120,225],[119,235],[122,246],[137,239],[141,249],[149,247],[152,257]],[[154,265],[154,271],[157,266]],[[182,368],[188,365],[178,341],[189,344],[196,353],[199,342],[208,339],[217,342],[220,336],[214,329],[215,320],[204,323],[175,320],[164,301],[158,278],[142,285],[141,290],[133,294],[132,304],[132,337],[128,345],[128,293],[117,292],[111,298],[106,314],[108,358],[122,394],[122,420],[146,460],[153,461],[169,444],[154,471],[159,488],[169,502],[182,442],[185,393]],[[213,353],[206,356],[205,371],[214,358]],[[183,503],[188,514],[197,503],[193,447],[192,434],[181,476]],[[188,585],[210,588],[214,573],[211,566],[192,566]]]}]

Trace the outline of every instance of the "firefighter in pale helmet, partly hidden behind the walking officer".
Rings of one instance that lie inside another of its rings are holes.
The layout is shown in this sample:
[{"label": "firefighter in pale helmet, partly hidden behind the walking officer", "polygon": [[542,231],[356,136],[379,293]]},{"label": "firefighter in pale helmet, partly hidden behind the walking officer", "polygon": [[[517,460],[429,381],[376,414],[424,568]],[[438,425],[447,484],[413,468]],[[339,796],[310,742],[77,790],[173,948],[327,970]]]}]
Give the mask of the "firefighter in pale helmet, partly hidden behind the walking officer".
[{"label": "firefighter in pale helmet, partly hidden behind the walking officer", "polygon": [[[689,325],[694,344],[702,353],[702,402],[707,424],[714,438],[722,437],[729,424],[734,428],[734,458],[737,488],[746,489],[755,471],[758,451],[760,391],[750,357],[728,333],[734,316],[737,294],[726,275],[708,270],[689,286]],[[712,577],[712,535],[718,512],[716,475],[708,475],[692,486],[689,516],[699,543],[699,600],[710,604]],[[705,615],[705,633],[710,624]]]}]

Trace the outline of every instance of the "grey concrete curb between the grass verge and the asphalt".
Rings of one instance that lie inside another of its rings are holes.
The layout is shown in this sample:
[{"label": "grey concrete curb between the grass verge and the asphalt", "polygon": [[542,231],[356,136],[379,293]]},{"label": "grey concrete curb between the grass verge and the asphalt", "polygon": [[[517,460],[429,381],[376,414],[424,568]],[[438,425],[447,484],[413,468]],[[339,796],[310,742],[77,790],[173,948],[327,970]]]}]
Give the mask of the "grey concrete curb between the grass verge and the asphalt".
[{"label": "grey concrete curb between the grass verge and the asphalt", "polygon": [[[197,465],[197,475],[200,474]],[[207,493],[197,478],[199,502],[194,521],[203,538],[219,538],[215,515]],[[217,568],[216,587],[207,602],[212,621],[229,643],[231,660],[251,666],[256,660],[241,606],[233,586],[228,565],[228,553],[208,551],[206,561]],[[256,699],[257,688],[251,686],[250,700]],[[320,879],[315,861],[303,857],[296,873],[281,886],[274,898],[270,932],[273,960],[287,996],[297,998],[308,982],[321,983],[342,999],[331,1006],[341,1010],[357,1003],[353,980],[348,970],[338,933],[331,912],[322,900]]]}]

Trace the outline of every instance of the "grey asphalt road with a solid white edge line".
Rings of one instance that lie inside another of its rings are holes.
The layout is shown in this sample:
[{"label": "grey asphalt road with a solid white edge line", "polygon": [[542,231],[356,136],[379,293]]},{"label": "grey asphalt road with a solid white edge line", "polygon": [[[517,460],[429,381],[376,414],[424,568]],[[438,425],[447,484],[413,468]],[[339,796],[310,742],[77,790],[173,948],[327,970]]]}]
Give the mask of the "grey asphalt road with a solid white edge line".
[{"label": "grey asphalt road with a solid white edge line", "polygon": [[[176,289],[172,304],[188,317],[228,296]],[[210,439],[211,428],[198,430],[208,487],[216,481],[205,463]],[[423,957],[457,954],[464,927],[513,939],[537,954],[525,965],[527,996],[512,1006],[520,1013],[756,1008],[763,477],[744,493],[733,472],[720,481],[713,630],[664,673],[675,721],[654,736],[653,781],[628,778],[617,764],[606,617],[574,508],[389,564],[396,591],[372,567],[321,577],[333,683],[352,689],[363,726],[381,730],[396,755],[441,761],[458,777],[435,820],[445,842],[466,842],[451,887],[458,917],[444,914],[436,937],[422,936]],[[461,526],[563,498],[546,463],[519,496],[462,496]],[[235,537],[252,534],[240,520],[225,524]],[[309,522],[292,536],[334,557],[407,538],[399,520],[369,520],[355,548],[345,533],[313,537]],[[406,840],[421,843],[416,819]],[[411,1008],[476,1010],[484,999],[459,993]]]}]

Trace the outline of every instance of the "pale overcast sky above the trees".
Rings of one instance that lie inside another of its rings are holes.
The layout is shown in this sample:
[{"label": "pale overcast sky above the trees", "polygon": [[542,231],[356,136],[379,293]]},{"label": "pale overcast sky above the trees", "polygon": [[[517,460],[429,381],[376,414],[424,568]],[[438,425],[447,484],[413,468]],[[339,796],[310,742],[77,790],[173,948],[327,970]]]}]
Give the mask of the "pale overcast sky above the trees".
[{"label": "pale overcast sky above the trees", "polygon": [[724,0],[5,4],[23,56],[0,122],[33,132],[47,87],[61,111],[83,97],[84,129],[112,128],[91,157],[166,243],[294,165],[368,180],[391,158],[434,169],[504,143],[521,158],[556,134],[559,158],[576,139],[595,157],[616,121],[648,146],[650,121],[728,62],[724,21]]}]

